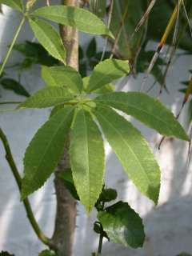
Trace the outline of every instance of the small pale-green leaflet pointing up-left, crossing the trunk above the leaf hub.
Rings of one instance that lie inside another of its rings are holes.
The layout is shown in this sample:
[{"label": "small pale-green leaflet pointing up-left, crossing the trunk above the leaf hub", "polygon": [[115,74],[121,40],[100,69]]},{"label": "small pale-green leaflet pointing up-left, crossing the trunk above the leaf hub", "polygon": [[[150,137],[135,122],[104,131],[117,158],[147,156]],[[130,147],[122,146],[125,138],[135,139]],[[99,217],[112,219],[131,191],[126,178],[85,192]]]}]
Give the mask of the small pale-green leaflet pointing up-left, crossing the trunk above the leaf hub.
[{"label": "small pale-green leaflet pointing up-left, crossing the trunk above the leaf hub", "polygon": [[42,78],[48,86],[66,87],[75,94],[82,91],[82,77],[70,66],[42,66]]}]

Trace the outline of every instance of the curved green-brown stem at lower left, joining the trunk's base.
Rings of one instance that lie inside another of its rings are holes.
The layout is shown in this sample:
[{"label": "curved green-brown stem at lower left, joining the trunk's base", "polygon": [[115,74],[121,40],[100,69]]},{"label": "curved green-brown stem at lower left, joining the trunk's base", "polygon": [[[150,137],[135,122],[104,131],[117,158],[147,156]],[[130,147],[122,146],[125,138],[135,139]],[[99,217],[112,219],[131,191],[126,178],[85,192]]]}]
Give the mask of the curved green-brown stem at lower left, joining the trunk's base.
[{"label": "curved green-brown stem at lower left, joining the trunk's base", "polygon": [[[17,166],[14,162],[14,158],[13,158],[13,155],[12,155],[11,150],[10,150],[9,142],[6,138],[6,134],[4,134],[4,132],[2,131],[1,128],[0,128],[0,138],[2,140],[2,144],[3,144],[4,149],[6,151],[6,161],[8,162],[8,164],[10,166],[10,170],[12,171],[12,174],[14,175],[14,178],[15,178],[15,180],[17,182],[17,185],[18,185],[18,190],[21,194],[22,178],[21,178],[21,176],[18,172],[18,168],[17,168]],[[35,234],[37,234],[38,238],[44,244],[46,244],[47,246],[50,246],[50,239],[46,238],[45,234],[42,233],[42,230],[38,226],[38,222],[34,218],[34,214],[33,214],[33,211],[31,209],[30,202],[29,202],[28,198],[23,200],[23,204],[24,204],[25,209],[26,209],[27,218],[29,219],[30,225],[33,227],[33,230],[34,230]]]}]

